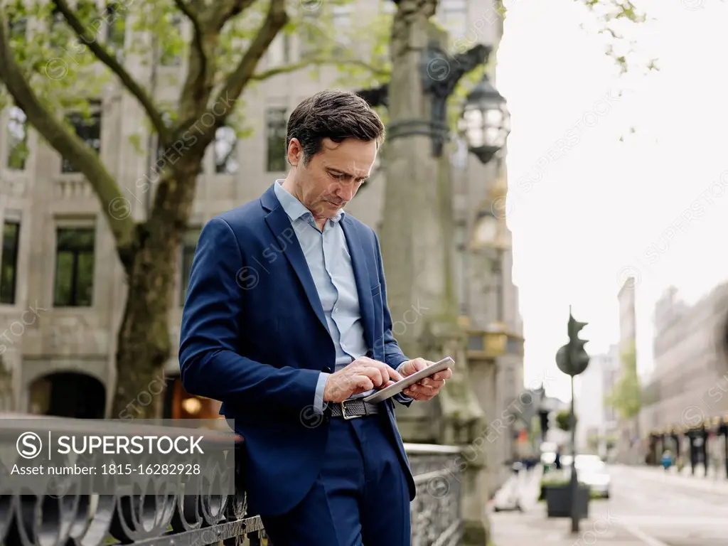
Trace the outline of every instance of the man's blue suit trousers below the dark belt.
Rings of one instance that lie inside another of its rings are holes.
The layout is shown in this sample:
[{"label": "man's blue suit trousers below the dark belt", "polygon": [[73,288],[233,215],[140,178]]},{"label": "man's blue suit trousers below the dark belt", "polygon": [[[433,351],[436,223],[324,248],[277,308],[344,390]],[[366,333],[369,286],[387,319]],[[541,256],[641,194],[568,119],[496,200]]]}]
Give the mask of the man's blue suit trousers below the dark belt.
[{"label": "man's blue suit trousers below the dark belt", "polygon": [[325,460],[304,500],[283,515],[261,515],[273,546],[410,546],[408,481],[385,418],[331,419]]}]

